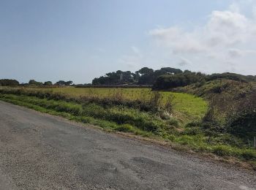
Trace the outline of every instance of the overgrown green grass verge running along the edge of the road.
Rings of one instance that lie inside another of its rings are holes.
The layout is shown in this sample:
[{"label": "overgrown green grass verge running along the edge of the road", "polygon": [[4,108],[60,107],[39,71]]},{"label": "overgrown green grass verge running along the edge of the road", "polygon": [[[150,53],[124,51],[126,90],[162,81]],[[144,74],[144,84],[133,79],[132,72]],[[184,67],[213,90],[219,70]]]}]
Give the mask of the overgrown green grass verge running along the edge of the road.
[{"label": "overgrown green grass verge running along the edge of the road", "polygon": [[256,167],[256,151],[247,148],[229,134],[207,134],[200,122],[182,126],[178,118],[161,117],[122,104],[105,106],[99,102],[78,102],[76,99],[54,99],[55,96],[0,94],[0,99],[29,107],[42,113],[59,115],[72,121],[91,123],[113,132],[129,132],[157,138],[200,153],[214,153],[224,159],[236,158]]}]

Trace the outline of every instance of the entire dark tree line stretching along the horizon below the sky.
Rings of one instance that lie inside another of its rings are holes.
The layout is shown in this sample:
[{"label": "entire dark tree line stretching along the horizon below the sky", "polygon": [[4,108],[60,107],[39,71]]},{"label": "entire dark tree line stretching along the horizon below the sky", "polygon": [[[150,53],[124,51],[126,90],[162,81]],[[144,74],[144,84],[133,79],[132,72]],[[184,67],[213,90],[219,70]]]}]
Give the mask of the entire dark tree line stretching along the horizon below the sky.
[{"label": "entire dark tree line stretching along the horizon below the sky", "polygon": [[[181,69],[163,67],[161,69],[150,69],[143,67],[136,72],[118,70],[116,72],[108,72],[104,76],[95,77],[92,86],[152,86],[154,89],[168,89],[181,86],[188,86],[193,83],[203,85],[210,80],[227,79],[236,80],[243,83],[256,81],[256,77],[249,75],[238,75],[236,73],[225,72],[222,74],[206,75],[201,72],[191,72],[189,70],[182,71]],[[2,79],[0,86],[78,86],[84,87],[87,85],[75,85],[72,80],[59,80],[56,83],[46,81],[45,83],[36,80],[29,80],[29,83],[20,84],[18,80]]]}]

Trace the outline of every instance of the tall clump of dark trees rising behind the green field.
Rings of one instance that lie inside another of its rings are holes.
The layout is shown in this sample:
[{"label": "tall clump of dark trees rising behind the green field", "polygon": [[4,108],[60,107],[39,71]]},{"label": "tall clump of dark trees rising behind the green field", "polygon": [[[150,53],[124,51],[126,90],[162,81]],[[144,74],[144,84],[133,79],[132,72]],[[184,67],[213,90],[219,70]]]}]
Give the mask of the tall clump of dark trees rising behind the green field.
[{"label": "tall clump of dark trees rising behind the green field", "polygon": [[115,86],[115,85],[149,85],[153,88],[175,88],[178,86],[187,86],[191,83],[197,83],[203,80],[206,75],[200,72],[190,72],[181,69],[163,67],[161,69],[150,69],[143,67],[136,72],[109,72],[101,77],[92,80],[95,86]]}]

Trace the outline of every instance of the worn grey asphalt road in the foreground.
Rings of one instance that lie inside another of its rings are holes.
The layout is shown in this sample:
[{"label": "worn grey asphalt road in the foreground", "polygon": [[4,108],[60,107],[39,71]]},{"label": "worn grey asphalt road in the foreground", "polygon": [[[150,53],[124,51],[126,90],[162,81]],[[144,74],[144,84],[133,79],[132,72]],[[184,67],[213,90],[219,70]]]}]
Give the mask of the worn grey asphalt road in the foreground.
[{"label": "worn grey asphalt road in the foreground", "polygon": [[254,189],[256,173],[0,102],[0,189]]}]

